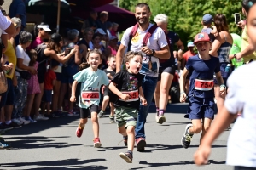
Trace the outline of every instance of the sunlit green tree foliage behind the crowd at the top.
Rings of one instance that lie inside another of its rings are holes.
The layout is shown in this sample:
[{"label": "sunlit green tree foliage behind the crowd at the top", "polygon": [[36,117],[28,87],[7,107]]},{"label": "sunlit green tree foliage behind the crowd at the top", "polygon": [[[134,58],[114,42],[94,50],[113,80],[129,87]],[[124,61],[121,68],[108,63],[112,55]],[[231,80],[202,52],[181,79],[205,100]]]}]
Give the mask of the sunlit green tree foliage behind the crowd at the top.
[{"label": "sunlit green tree foliage behind the crowd at the top", "polygon": [[241,35],[241,29],[235,24],[234,14],[241,14],[241,0],[119,0],[119,6],[131,12],[135,11],[137,3],[148,3],[152,15],[166,14],[168,27],[178,33],[186,44],[193,41],[201,31],[201,20],[204,14],[224,14],[228,20],[230,32]]}]

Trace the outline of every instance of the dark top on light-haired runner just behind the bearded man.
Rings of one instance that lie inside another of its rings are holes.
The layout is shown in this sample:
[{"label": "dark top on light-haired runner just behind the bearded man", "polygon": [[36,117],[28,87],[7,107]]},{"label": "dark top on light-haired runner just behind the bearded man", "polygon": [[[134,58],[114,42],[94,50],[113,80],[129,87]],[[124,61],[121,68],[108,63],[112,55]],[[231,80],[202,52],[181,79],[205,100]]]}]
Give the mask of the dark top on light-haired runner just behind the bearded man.
[{"label": "dark top on light-haired runner just behind the bearded man", "polygon": [[173,55],[173,48],[175,43],[178,42],[179,37],[177,35],[177,33],[173,32],[173,31],[168,31],[167,33],[167,37],[169,38],[169,48],[170,48],[170,59],[160,59],[160,68],[159,70],[161,71],[161,67],[166,68],[166,66],[172,66],[175,65],[175,59],[174,59],[174,55]]}]

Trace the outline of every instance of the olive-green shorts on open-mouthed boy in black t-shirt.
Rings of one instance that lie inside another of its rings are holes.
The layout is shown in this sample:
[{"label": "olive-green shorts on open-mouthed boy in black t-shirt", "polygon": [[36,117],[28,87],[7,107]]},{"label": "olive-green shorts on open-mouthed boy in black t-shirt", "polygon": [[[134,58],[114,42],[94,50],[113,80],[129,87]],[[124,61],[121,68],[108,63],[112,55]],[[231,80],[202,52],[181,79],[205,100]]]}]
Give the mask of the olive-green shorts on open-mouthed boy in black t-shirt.
[{"label": "olive-green shorts on open-mouthed boy in black t-shirt", "polygon": [[137,109],[128,108],[128,107],[117,107],[114,110],[115,118],[118,127],[125,125],[125,128],[128,126],[136,127],[137,123]]}]

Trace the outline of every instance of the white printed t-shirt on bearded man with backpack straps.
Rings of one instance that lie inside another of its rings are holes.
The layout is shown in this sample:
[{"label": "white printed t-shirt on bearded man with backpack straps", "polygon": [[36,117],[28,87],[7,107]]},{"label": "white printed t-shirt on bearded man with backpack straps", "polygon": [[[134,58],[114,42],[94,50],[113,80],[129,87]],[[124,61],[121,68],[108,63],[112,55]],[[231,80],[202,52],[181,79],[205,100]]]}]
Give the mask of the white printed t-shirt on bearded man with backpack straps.
[{"label": "white printed t-shirt on bearded man with backpack straps", "polygon": [[[149,28],[153,26],[153,24],[150,24],[148,26],[148,29],[146,31],[141,31],[139,28],[137,29],[136,35],[131,39],[131,51],[141,51],[141,47],[143,46],[143,38],[148,32]],[[130,40],[130,34],[132,30],[131,26],[130,28],[127,28],[121,43],[128,47],[129,40]],[[158,27],[151,37],[148,39],[147,46],[150,49],[154,50],[160,50],[160,48],[164,48],[168,45],[166,42],[166,35],[165,32]],[[143,54],[143,66],[140,71],[143,75],[148,75],[150,77],[158,77],[158,71],[159,71],[159,59],[156,57],[151,57],[151,65],[150,65],[150,57],[146,56],[146,54]]]}]

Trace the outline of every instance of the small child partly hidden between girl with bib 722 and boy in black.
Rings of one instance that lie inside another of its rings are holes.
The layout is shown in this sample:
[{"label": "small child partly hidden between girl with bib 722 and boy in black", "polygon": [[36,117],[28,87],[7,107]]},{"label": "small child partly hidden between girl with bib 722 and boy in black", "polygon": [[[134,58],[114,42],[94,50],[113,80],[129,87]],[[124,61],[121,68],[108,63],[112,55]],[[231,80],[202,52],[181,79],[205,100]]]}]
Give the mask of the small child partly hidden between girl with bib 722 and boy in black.
[{"label": "small child partly hidden between girl with bib 722 and boy in black", "polygon": [[[109,55],[108,56],[108,68],[105,69],[104,71],[106,72],[107,74],[107,77],[109,79],[109,82],[111,82],[114,74],[115,74],[115,56],[113,55]],[[110,119],[110,123],[113,123],[114,122],[114,119],[113,119],[113,114],[114,114],[114,106],[113,106],[113,103],[114,103],[114,99],[116,99],[116,97],[114,96],[114,94],[108,89],[108,87],[104,87],[103,89],[103,101],[102,101],[102,110],[99,112],[99,117],[101,118],[103,115],[105,115],[105,110],[106,110],[106,107],[108,105],[108,102],[109,102],[109,105],[110,105],[110,115],[109,115],[109,119]]]}]

